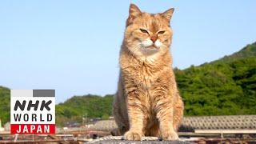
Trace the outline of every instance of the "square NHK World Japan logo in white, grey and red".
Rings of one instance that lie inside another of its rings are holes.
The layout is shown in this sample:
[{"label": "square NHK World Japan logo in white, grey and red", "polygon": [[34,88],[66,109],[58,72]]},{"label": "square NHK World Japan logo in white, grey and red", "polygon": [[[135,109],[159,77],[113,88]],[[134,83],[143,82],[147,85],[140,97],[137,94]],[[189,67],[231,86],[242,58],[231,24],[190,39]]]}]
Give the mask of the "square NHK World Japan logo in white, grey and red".
[{"label": "square NHK World Japan logo in white, grey and red", "polygon": [[55,133],[55,90],[10,90],[11,134]]}]

